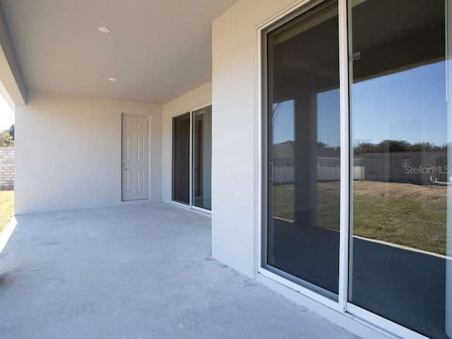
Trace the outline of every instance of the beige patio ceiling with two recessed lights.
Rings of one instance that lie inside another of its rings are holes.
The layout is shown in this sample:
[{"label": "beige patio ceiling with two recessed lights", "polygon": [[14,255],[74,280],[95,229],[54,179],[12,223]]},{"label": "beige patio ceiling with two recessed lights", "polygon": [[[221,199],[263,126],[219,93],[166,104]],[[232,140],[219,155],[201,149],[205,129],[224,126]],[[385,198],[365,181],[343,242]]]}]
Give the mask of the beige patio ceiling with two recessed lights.
[{"label": "beige patio ceiling with two recessed lights", "polygon": [[27,88],[154,104],[210,81],[211,23],[235,2],[0,0]]}]

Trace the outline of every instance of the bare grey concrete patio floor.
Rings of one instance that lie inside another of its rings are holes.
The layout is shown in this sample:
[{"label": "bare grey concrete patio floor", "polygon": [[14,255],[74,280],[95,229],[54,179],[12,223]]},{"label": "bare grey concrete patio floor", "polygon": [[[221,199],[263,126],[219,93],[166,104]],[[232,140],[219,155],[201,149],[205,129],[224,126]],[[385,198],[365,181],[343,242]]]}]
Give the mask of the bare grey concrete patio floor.
[{"label": "bare grey concrete patio floor", "polygon": [[0,338],[357,338],[210,258],[210,219],[163,203],[17,217]]}]

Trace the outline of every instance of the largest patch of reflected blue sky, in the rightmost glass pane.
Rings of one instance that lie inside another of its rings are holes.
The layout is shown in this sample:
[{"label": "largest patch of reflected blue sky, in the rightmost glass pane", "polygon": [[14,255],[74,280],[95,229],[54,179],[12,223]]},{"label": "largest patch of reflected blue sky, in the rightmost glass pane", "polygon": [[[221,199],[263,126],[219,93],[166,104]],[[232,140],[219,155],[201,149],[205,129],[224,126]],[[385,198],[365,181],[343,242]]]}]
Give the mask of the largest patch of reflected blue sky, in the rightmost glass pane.
[{"label": "largest patch of reflected blue sky, in the rightmost glass pane", "polygon": [[447,141],[444,61],[355,83],[352,100],[355,141]]}]

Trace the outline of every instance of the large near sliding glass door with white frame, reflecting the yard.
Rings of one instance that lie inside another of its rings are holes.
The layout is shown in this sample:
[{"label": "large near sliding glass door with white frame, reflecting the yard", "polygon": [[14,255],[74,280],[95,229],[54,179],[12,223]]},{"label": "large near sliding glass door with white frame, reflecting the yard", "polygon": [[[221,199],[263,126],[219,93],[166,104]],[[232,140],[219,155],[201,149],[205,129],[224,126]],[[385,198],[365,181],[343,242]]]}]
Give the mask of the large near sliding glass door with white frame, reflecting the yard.
[{"label": "large near sliding glass door with white frame, reflecting the yard", "polygon": [[400,337],[452,338],[452,1],[291,15],[262,35],[261,272]]}]

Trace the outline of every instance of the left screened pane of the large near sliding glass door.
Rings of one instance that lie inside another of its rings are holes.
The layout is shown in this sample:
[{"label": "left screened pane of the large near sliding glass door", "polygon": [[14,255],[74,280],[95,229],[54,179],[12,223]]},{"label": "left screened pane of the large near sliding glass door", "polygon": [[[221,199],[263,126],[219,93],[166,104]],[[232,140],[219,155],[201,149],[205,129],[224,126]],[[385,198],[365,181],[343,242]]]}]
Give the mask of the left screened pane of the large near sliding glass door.
[{"label": "left screened pane of the large near sliding glass door", "polygon": [[333,299],[339,249],[338,44],[337,1],[268,33],[267,268]]}]

